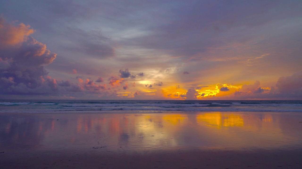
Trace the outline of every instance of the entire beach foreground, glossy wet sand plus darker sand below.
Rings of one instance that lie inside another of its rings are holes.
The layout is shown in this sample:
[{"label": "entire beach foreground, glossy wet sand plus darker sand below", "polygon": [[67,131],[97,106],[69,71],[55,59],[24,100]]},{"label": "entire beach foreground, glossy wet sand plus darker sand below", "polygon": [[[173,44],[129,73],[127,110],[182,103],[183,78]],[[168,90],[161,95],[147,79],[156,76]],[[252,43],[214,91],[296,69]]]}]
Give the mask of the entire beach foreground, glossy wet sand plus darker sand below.
[{"label": "entire beach foreground, glossy wet sand plus darker sand below", "polygon": [[0,114],[1,168],[302,168],[297,113]]}]

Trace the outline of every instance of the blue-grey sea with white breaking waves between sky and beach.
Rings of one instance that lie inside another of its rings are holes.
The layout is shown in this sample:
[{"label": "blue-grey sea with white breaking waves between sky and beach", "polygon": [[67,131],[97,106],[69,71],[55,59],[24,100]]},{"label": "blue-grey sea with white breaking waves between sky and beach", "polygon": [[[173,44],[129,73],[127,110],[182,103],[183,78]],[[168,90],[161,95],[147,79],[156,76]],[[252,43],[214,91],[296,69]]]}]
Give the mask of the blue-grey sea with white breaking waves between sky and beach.
[{"label": "blue-grey sea with white breaking waves between sky and beach", "polygon": [[0,113],[301,112],[302,100],[0,100]]}]

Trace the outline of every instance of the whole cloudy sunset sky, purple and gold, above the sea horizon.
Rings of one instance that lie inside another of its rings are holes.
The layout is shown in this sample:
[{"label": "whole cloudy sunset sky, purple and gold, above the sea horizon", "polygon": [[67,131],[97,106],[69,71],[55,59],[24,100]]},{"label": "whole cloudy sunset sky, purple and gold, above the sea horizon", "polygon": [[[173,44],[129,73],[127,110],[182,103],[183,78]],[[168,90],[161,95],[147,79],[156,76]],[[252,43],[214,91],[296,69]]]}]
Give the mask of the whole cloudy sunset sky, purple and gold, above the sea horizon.
[{"label": "whole cloudy sunset sky, purple and gold, above the sea horizon", "polygon": [[0,99],[302,100],[300,0],[0,1]]}]

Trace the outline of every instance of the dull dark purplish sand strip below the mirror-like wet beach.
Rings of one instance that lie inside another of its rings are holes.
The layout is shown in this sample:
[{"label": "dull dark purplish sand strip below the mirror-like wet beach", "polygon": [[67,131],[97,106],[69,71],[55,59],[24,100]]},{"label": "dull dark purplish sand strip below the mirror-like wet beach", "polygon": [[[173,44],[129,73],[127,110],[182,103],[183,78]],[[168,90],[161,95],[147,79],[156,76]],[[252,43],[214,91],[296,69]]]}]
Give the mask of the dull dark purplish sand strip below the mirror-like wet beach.
[{"label": "dull dark purplish sand strip below the mirror-like wet beach", "polygon": [[302,168],[302,151],[168,151],[98,153],[14,150],[0,155],[1,168]]}]

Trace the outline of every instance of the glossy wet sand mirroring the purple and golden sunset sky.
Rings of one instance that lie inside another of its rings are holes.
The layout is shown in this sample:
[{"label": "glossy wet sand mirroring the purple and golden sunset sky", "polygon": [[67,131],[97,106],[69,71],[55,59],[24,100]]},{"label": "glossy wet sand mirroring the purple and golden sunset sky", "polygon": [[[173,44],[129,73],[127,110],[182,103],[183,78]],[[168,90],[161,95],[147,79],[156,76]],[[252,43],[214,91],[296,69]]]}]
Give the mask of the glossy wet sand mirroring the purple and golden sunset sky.
[{"label": "glossy wet sand mirroring the purple and golden sunset sky", "polygon": [[192,146],[206,149],[301,148],[299,118],[301,115],[290,113],[2,114],[0,146],[106,147],[110,151]]}]

